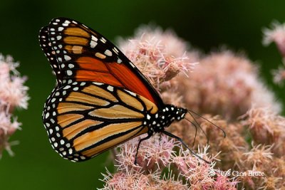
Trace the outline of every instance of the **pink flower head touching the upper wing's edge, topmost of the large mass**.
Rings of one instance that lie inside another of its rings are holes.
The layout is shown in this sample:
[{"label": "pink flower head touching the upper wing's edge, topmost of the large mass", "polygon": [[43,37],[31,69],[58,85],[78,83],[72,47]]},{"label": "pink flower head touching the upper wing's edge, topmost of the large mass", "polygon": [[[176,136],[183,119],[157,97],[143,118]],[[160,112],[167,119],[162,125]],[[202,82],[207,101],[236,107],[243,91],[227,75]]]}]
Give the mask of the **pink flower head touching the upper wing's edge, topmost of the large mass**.
[{"label": "pink flower head touching the upper wing's edge, topmost of the large mass", "polygon": [[197,53],[187,52],[187,43],[172,31],[154,26],[138,28],[132,40],[120,39],[119,47],[140,71],[160,90],[165,80],[187,73],[197,64]]}]

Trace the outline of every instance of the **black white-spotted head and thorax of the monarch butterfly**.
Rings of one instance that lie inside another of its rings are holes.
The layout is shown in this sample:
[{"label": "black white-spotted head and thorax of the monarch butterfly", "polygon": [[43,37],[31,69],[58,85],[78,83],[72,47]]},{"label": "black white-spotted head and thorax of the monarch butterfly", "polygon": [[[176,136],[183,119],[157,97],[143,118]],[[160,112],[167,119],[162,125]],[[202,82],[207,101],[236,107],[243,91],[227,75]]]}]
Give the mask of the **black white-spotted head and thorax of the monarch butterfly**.
[{"label": "black white-spotted head and thorax of the monarch butterfly", "polygon": [[148,134],[155,132],[162,132],[165,127],[170,126],[173,121],[182,120],[185,117],[187,110],[182,107],[175,107],[175,105],[165,105],[155,114],[147,112],[143,125],[148,127]]}]

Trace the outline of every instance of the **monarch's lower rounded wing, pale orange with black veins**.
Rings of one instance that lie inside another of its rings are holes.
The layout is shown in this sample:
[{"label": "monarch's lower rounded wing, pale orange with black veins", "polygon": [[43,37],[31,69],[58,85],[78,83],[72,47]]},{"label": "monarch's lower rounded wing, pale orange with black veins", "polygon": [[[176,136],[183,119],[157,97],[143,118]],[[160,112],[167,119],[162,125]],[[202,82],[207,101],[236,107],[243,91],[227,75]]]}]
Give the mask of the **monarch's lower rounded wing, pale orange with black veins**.
[{"label": "monarch's lower rounded wing, pale orange with black veins", "polygon": [[82,161],[147,132],[150,100],[103,83],[73,82],[48,98],[43,123],[52,147],[62,157]]}]

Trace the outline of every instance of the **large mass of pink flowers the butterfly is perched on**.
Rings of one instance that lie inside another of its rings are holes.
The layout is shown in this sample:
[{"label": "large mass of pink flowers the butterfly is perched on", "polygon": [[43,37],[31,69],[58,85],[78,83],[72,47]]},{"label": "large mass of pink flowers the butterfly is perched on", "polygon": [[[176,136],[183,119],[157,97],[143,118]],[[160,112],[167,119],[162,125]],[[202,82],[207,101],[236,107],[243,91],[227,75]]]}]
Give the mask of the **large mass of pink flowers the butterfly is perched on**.
[{"label": "large mass of pink flowers the butterfly is perched on", "polygon": [[185,150],[180,142],[155,135],[142,142],[136,166],[138,137],[116,149],[117,172],[103,175],[103,189],[284,187],[285,119],[256,64],[229,50],[202,56],[189,50],[173,32],[147,26],[133,40],[121,40],[120,46],[165,103],[202,116],[190,118],[190,122],[197,121],[196,127],[182,120],[167,130],[211,164]]}]

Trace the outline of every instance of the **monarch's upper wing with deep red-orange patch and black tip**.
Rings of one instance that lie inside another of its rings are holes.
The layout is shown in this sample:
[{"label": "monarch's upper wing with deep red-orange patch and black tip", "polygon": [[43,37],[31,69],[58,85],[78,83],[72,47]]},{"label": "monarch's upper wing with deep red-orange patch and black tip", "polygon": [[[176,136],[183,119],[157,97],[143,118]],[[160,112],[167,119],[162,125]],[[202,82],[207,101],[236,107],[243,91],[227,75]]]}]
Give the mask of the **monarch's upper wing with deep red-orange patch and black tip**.
[{"label": "monarch's upper wing with deep red-orange patch and black tip", "polygon": [[100,33],[78,21],[58,18],[48,25],[48,40],[63,73],[63,82],[105,83],[142,95],[158,107],[164,105],[138,68]]}]

